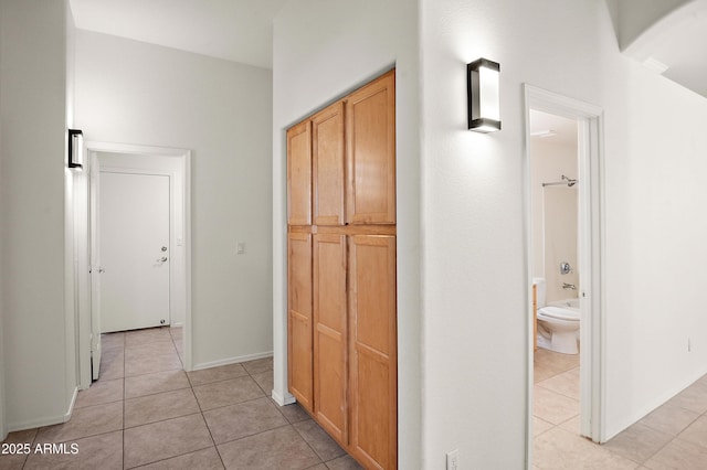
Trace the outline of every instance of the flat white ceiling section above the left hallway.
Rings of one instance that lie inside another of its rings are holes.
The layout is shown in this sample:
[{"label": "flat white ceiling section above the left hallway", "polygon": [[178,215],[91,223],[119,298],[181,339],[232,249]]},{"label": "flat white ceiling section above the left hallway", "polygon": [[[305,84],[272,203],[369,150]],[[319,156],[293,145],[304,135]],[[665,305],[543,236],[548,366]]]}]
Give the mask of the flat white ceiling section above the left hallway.
[{"label": "flat white ceiling section above the left hallway", "polygon": [[70,0],[76,28],[260,67],[287,0]]}]

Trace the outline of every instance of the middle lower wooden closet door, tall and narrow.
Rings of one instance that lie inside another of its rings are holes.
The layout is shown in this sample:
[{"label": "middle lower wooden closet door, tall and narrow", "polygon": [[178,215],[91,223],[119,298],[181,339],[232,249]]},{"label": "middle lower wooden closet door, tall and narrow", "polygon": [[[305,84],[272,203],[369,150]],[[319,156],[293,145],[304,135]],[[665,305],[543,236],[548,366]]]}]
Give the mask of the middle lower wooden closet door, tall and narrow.
[{"label": "middle lower wooden closet door, tall and narrow", "polygon": [[345,444],[348,438],[345,235],[315,235],[314,292],[315,418]]}]

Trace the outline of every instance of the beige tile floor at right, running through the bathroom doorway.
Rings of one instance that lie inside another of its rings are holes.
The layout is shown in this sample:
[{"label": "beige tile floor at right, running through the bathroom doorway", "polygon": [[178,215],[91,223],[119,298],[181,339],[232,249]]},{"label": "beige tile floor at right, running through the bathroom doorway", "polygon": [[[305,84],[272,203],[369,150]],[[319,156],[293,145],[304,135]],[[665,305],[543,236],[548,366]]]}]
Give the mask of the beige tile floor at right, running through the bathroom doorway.
[{"label": "beige tile floor at right, running through the bathroom doorway", "polygon": [[579,355],[535,354],[534,469],[707,469],[707,375],[601,446],[579,431]]}]

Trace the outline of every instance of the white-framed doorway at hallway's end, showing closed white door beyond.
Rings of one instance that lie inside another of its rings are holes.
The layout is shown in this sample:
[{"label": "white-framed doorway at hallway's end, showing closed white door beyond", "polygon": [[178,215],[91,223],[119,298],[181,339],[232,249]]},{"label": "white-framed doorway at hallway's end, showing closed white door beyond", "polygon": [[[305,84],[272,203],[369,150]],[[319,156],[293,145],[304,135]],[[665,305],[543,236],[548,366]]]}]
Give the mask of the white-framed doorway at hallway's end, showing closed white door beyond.
[{"label": "white-framed doorway at hallway's end, showing closed white door beyond", "polygon": [[[91,314],[80,330],[91,341],[81,344],[82,364],[89,364],[95,381],[102,364],[112,365],[117,343],[165,340],[173,351],[162,348],[149,361],[135,361],[133,372],[189,371],[190,152],[99,142],[87,142],[86,152]],[[128,359],[125,374],[133,366]]]}]

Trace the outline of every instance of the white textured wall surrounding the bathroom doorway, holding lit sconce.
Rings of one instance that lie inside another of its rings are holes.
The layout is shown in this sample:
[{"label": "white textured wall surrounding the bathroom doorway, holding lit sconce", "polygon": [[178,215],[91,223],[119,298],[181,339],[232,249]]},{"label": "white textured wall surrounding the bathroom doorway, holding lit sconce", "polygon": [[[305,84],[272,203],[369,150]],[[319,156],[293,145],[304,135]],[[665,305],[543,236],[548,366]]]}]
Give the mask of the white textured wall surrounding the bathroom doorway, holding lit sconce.
[{"label": "white textured wall surrounding the bathroom doorway, holding lit sconce", "polygon": [[[424,467],[458,447],[465,468],[521,468],[523,84],[605,110],[604,437],[707,372],[707,102],[623,57],[603,2],[421,6]],[[465,130],[465,64],[479,56],[502,64],[495,135]]]}]

